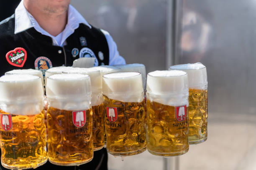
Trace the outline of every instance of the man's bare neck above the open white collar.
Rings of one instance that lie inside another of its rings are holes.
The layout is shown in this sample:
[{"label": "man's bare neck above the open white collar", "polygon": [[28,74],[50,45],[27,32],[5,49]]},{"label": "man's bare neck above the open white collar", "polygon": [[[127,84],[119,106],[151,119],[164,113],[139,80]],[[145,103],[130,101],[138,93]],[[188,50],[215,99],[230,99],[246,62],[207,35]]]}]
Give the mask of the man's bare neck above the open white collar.
[{"label": "man's bare neck above the open white collar", "polygon": [[67,11],[61,15],[48,14],[33,5],[24,4],[29,13],[36,19],[41,28],[56,37],[67,25]]}]

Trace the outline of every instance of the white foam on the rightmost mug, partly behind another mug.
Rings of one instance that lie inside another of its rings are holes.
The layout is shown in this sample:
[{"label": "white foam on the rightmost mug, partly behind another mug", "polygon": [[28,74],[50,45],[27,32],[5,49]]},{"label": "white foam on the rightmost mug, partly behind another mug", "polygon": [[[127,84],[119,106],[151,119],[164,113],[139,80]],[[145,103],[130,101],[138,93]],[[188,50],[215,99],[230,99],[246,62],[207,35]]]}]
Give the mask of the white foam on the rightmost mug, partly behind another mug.
[{"label": "white foam on the rightmost mug, partly behind another mug", "polygon": [[200,62],[194,64],[173,65],[169,70],[183,70],[187,72],[189,80],[189,88],[193,89],[207,89],[207,71],[205,65]]}]

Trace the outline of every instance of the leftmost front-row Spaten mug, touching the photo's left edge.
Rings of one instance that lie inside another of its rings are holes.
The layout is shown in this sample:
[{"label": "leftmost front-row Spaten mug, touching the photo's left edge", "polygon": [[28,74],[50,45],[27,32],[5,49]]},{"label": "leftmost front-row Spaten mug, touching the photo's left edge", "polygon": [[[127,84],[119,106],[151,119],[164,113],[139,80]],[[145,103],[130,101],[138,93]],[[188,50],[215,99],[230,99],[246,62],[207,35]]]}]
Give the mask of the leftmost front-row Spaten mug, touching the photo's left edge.
[{"label": "leftmost front-row Spaten mug, touching the photo's left edge", "polygon": [[46,163],[43,100],[40,77],[0,77],[0,145],[3,167],[30,169]]}]

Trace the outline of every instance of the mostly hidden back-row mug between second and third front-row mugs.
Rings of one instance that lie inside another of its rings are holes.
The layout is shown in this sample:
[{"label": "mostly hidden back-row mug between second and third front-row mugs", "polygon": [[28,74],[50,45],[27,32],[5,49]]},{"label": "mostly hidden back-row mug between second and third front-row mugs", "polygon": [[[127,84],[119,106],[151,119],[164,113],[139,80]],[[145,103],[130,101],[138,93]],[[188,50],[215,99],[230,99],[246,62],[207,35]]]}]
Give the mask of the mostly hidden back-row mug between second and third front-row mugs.
[{"label": "mostly hidden back-row mug between second and third front-row mugs", "polygon": [[100,71],[93,68],[75,68],[63,72],[64,74],[87,74],[90,76],[92,85],[92,120],[93,120],[93,148],[94,151],[104,147],[104,112],[101,89]]}]

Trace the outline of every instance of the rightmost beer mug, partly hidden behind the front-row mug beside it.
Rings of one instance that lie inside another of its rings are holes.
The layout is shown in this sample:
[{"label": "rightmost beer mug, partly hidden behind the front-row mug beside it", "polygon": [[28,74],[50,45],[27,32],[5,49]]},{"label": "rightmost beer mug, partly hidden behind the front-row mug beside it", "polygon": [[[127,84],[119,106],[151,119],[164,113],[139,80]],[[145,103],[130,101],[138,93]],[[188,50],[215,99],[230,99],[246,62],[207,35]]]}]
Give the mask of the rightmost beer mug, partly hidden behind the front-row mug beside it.
[{"label": "rightmost beer mug, partly hidden behind the front-row mug beside it", "polygon": [[195,64],[174,65],[170,69],[187,72],[189,80],[189,144],[207,140],[208,92],[206,67]]}]

